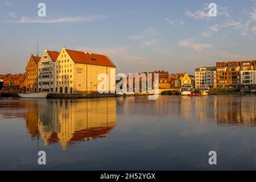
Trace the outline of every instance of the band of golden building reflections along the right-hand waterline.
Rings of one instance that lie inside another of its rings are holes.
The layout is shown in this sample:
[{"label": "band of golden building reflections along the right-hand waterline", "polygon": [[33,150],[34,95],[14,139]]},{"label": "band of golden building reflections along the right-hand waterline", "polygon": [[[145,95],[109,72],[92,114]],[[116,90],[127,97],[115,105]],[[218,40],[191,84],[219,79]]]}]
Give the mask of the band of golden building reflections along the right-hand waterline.
[{"label": "band of golden building reflections along the right-hand waterline", "polygon": [[158,100],[147,100],[147,97],[118,98],[117,106],[120,106],[119,113],[126,115],[177,115],[187,120],[214,121],[222,126],[256,126],[255,96],[160,96]]}]

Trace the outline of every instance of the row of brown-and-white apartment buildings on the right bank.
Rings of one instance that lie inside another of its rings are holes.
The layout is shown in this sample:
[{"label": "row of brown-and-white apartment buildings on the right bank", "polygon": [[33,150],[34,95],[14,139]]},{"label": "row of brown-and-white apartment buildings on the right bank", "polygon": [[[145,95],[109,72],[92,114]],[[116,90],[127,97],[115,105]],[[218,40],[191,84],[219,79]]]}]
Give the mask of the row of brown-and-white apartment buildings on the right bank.
[{"label": "row of brown-and-white apartment buildings on the right bank", "polygon": [[216,67],[195,70],[196,88],[254,88],[256,86],[256,60],[222,61]]}]

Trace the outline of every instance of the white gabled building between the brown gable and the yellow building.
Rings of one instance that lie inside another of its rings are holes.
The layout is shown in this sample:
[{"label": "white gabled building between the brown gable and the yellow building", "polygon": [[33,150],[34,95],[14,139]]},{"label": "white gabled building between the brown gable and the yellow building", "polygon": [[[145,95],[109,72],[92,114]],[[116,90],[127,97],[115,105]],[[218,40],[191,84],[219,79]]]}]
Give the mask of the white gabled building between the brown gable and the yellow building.
[{"label": "white gabled building between the brown gable and the yellow building", "polygon": [[53,92],[54,88],[54,63],[59,56],[57,51],[45,50],[38,64],[38,89],[39,92]]}]

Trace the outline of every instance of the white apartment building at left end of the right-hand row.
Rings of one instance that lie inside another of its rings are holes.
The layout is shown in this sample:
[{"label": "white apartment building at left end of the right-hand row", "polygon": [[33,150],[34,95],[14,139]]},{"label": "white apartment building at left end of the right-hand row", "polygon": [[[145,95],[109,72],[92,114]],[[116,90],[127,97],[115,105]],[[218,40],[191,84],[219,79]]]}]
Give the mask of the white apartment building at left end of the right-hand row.
[{"label": "white apartment building at left end of the right-hand row", "polygon": [[201,67],[195,70],[195,88],[216,88],[216,67]]}]

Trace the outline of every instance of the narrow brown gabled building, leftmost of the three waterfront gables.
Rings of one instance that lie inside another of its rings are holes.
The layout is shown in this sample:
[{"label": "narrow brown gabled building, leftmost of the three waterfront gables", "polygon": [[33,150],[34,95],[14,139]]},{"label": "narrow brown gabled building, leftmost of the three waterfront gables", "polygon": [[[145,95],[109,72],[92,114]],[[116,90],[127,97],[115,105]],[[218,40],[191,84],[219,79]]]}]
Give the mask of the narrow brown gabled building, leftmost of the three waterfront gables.
[{"label": "narrow brown gabled building, leftmost of the three waterfront gables", "polygon": [[26,74],[27,74],[27,91],[38,92],[38,63],[41,57],[30,56],[30,60],[27,63]]}]

